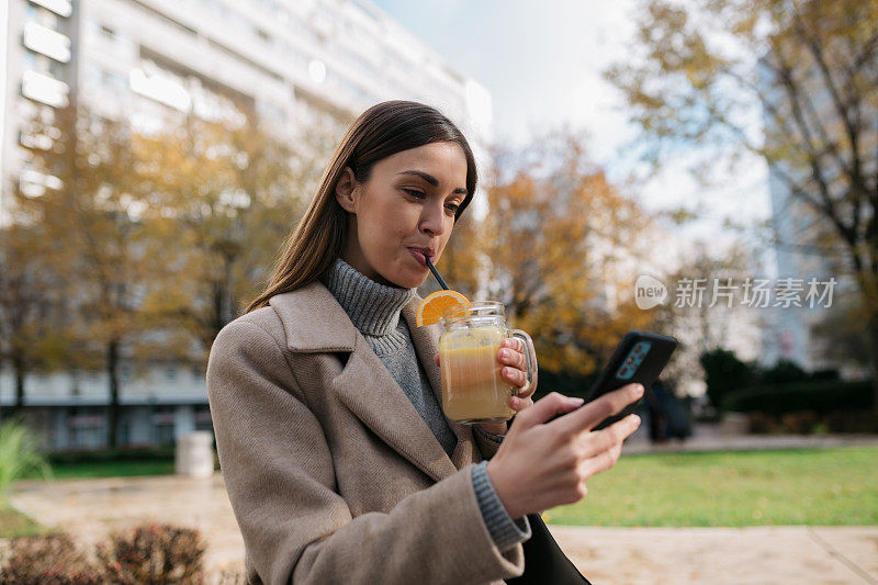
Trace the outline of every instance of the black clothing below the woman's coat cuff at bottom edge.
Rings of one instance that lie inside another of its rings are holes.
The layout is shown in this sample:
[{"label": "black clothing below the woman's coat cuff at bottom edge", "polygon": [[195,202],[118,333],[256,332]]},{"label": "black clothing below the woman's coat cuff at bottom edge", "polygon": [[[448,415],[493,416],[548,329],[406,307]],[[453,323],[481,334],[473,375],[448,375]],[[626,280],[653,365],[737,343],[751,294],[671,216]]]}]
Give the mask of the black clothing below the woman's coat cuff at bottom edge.
[{"label": "black clothing below the woman's coat cuff at bottom edge", "polygon": [[528,514],[531,537],[525,549],[525,573],[507,578],[508,585],[590,585],[558,545],[539,514]]}]

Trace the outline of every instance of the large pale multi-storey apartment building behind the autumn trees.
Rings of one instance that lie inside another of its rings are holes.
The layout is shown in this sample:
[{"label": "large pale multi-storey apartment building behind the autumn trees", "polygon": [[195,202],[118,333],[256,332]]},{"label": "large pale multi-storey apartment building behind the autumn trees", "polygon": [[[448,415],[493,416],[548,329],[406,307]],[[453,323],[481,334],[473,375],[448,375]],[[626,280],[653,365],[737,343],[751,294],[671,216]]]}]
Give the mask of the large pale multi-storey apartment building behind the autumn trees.
[{"label": "large pale multi-storey apartment building behind the autumn trees", "polygon": [[[492,139],[489,93],[367,0],[9,0],[0,2],[0,222],[7,187],[29,196],[60,188],[29,149],[59,108],[82,103],[149,132],[175,112],[240,120],[240,108],[294,139],[315,120],[352,120],[387,99],[438,106],[470,138],[480,164]],[[25,148],[27,147],[27,148]],[[101,372],[32,375],[29,416],[52,449],[94,448],[106,437]],[[0,406],[12,404],[0,370]],[[204,373],[175,363],[122,367],[122,445],[162,445],[210,429]]]}]

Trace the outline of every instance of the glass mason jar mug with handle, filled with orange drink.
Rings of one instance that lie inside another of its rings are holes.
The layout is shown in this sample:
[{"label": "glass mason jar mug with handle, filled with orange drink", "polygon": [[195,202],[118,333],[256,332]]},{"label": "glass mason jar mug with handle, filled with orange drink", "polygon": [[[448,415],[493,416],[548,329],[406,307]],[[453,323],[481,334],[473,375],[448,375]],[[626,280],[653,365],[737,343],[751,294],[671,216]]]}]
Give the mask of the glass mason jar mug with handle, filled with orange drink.
[{"label": "glass mason jar mug with handle, filled with orange drink", "polygon": [[497,352],[504,339],[525,342],[527,385],[537,383],[537,352],[530,336],[506,327],[506,311],[496,301],[476,301],[453,307],[441,319],[439,363],[442,374],[442,410],[462,424],[509,420],[515,410],[509,397],[517,389],[503,380]]}]

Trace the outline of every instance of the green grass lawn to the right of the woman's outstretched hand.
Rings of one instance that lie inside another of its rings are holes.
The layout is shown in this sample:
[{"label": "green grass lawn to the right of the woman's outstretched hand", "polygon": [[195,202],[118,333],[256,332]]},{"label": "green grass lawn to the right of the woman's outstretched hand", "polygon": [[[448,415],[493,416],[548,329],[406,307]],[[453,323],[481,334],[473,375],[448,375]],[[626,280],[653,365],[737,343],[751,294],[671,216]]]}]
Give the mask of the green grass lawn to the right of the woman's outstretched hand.
[{"label": "green grass lawn to the right of the woman's outstretched hand", "polygon": [[581,526],[878,525],[878,448],[622,457],[577,504]]}]

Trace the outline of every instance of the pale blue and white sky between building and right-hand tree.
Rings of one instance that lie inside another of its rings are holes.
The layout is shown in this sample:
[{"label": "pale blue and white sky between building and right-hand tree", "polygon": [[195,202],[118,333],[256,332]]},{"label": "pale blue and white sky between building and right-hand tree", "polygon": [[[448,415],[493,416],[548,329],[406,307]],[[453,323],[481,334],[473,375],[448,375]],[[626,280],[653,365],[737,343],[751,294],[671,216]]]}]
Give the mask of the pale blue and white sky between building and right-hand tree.
[{"label": "pale blue and white sky between building and right-hand tree", "polygon": [[[755,222],[770,215],[767,171],[753,161],[702,188],[679,156],[657,175],[645,172],[631,143],[621,93],[603,78],[612,63],[631,58],[637,0],[373,0],[386,14],[492,94],[494,136],[524,144],[569,125],[585,130],[589,153],[610,180],[628,184],[651,211],[698,209],[703,218],[680,230],[709,244],[728,243],[727,217]],[[770,265],[770,258],[764,258]],[[770,268],[769,268],[770,269]]]}]

